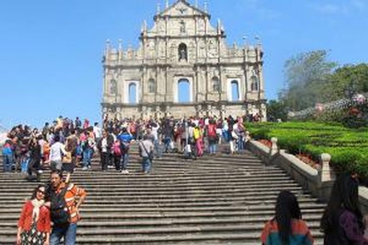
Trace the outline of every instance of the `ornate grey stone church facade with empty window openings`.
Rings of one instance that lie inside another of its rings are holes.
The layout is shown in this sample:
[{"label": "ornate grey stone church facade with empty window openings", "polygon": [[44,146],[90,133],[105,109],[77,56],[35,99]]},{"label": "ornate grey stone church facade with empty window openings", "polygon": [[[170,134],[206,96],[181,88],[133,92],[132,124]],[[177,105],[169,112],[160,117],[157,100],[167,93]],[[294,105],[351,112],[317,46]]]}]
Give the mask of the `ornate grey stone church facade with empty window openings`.
[{"label": "ornate grey stone church facade with empty window openings", "polygon": [[[167,1],[168,2],[168,1]],[[106,42],[102,109],[109,118],[244,116],[266,100],[261,44],[229,47],[221,22],[186,0],[143,23],[138,49]]]}]

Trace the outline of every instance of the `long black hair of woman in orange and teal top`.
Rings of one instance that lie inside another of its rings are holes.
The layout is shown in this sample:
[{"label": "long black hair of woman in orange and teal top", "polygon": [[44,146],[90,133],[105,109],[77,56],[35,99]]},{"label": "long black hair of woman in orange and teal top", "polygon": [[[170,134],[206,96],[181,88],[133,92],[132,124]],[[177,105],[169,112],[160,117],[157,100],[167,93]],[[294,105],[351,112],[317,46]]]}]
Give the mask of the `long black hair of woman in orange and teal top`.
[{"label": "long black hair of woman in orange and teal top", "polygon": [[279,193],[275,207],[275,219],[282,244],[289,245],[291,219],[302,219],[299,203],[294,194],[289,191],[281,191]]}]

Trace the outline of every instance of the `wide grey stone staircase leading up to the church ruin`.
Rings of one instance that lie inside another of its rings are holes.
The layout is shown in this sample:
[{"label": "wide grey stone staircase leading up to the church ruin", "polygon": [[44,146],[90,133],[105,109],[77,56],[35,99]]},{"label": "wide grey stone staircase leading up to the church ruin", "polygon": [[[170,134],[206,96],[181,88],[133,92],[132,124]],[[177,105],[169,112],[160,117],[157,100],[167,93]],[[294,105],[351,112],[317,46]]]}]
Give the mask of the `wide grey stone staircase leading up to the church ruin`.
[{"label": "wide grey stone staircase leading up to the church ruin", "polygon": [[[122,174],[78,169],[72,182],[88,193],[80,210],[78,244],[260,244],[264,222],[274,214],[280,190],[293,192],[315,237],[325,207],[278,167],[265,167],[251,152],[197,160],[164,154],[154,172],[140,173],[132,148]],[[49,171],[43,174],[46,181]],[[20,173],[0,173],[0,244],[14,244],[22,205],[35,182]]]}]

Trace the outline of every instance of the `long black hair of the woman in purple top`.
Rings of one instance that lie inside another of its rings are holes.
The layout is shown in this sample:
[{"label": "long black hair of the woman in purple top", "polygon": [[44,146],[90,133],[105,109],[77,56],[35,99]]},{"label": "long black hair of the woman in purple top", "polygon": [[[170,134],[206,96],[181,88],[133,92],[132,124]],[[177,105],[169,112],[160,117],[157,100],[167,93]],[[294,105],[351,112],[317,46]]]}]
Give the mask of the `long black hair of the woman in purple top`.
[{"label": "long black hair of the woman in purple top", "polygon": [[354,213],[360,228],[364,229],[363,215],[359,208],[359,183],[350,173],[342,173],[332,188],[330,199],[321,219],[324,233],[333,233],[339,227],[339,218],[343,209]]}]

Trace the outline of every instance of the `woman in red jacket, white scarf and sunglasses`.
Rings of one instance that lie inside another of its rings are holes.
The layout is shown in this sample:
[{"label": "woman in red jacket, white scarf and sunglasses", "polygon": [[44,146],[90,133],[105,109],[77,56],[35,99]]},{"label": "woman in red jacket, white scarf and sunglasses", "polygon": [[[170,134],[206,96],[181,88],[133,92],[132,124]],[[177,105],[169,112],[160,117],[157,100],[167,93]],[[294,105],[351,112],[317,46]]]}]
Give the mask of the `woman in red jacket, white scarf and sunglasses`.
[{"label": "woman in red jacket, white scarf and sunglasses", "polygon": [[39,185],[22,209],[17,245],[49,245],[50,209],[45,204],[45,186]]}]

